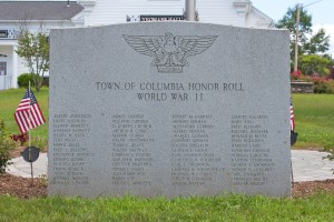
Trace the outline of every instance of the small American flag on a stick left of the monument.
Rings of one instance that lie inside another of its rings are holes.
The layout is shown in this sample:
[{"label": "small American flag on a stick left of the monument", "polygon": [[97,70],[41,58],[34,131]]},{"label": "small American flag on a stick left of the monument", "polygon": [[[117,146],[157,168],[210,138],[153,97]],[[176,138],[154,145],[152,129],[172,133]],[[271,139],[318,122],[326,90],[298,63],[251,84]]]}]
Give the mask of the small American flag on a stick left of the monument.
[{"label": "small American flag on a stick left of the monument", "polygon": [[27,89],[24,97],[22,98],[19,107],[14,112],[14,118],[21,133],[24,133],[28,130],[37,128],[38,125],[41,125],[46,122],[45,117],[31,90]]}]

